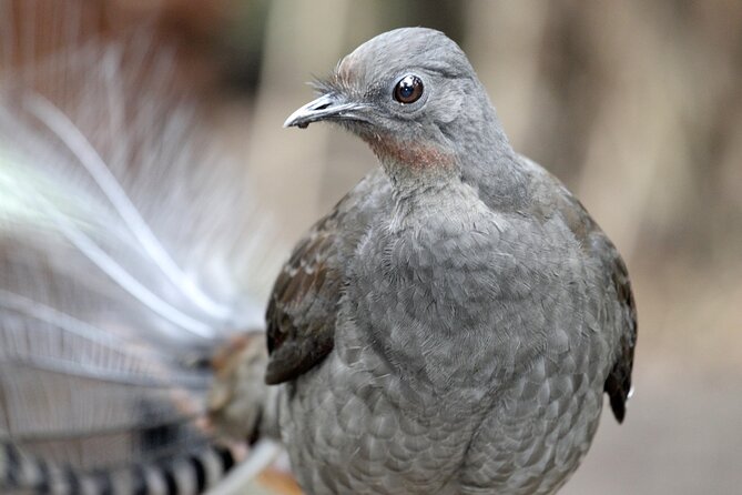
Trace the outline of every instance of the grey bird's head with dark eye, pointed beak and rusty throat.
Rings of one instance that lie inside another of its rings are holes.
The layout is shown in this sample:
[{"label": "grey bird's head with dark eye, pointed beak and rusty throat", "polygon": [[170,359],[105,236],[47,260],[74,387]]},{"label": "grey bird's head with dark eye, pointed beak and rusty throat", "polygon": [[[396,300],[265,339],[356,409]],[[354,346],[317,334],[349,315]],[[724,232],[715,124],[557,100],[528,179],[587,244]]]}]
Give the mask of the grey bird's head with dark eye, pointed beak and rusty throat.
[{"label": "grey bird's head with dark eye, pointed beak and rusty throat", "polygon": [[285,127],[333,121],[367,141],[385,160],[455,162],[467,99],[480,91],[464,52],[438,31],[407,28],[362,44],[317,83],[319,98]]}]

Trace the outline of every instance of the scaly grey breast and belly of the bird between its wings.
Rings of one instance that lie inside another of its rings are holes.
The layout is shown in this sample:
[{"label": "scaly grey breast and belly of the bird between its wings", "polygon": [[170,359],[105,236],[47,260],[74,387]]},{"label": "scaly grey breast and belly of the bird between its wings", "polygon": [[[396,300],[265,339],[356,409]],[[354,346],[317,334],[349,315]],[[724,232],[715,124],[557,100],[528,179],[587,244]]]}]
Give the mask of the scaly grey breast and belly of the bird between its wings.
[{"label": "scaly grey breast and belly of the bird between its wings", "polygon": [[368,226],[333,353],[285,388],[297,475],[309,493],[550,493],[598,425],[617,335],[582,315],[604,281],[581,280],[563,225],[492,212],[460,182],[417,200]]}]

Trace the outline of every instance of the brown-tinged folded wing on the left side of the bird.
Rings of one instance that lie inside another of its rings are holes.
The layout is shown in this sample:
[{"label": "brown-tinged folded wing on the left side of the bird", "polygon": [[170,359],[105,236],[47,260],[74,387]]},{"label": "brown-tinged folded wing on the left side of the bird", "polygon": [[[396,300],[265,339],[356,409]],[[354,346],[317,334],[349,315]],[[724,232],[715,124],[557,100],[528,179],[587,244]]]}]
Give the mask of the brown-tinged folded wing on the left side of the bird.
[{"label": "brown-tinged folded wing on the left side of the bird", "polygon": [[375,170],[294,249],[268,302],[266,383],[296,378],[333,350],[347,260],[372,219],[389,204],[388,180]]}]

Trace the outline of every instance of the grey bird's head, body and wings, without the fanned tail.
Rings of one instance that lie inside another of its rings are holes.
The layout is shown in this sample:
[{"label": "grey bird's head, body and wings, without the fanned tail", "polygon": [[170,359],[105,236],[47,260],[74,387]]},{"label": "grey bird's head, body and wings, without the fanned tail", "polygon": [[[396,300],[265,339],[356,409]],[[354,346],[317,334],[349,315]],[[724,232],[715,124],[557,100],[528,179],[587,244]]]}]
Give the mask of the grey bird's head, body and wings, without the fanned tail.
[{"label": "grey bird's head, body and wings, without the fanned tail", "polygon": [[[408,75],[423,92],[402,103]],[[286,125],[338,122],[383,170],[297,245],[267,311],[266,381],[283,383],[303,488],[556,492],[589,448],[603,391],[623,418],[636,311],[620,255],[512,151],[443,33],[376,37],[318,88]]]}]

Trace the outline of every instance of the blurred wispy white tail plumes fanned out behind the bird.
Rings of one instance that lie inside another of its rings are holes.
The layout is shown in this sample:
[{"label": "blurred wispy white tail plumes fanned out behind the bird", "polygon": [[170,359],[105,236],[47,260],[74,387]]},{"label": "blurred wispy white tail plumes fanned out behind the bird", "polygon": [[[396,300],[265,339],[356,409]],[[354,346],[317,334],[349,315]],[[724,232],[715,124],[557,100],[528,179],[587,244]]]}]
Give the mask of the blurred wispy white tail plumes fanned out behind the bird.
[{"label": "blurred wispy white tail plumes fanned out behind the bird", "polygon": [[[34,39],[11,6],[6,54]],[[3,62],[1,493],[195,493],[253,455],[212,446],[204,363],[262,330],[281,250],[145,34]]]}]

